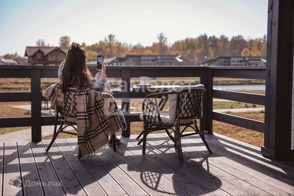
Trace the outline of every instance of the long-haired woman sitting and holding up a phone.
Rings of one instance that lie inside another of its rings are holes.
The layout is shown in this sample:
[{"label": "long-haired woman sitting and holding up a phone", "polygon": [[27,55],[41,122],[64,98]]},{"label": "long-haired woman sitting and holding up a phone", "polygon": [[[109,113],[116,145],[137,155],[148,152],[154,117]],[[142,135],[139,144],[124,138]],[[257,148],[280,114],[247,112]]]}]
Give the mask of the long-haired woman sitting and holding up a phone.
[{"label": "long-haired woman sitting and holding up a phone", "polygon": [[[106,92],[112,95],[109,81],[105,75],[105,65],[102,63],[102,69],[98,70],[95,78],[92,77],[87,67],[87,51],[79,43],[73,42],[66,53],[65,60],[61,63],[58,70],[58,78],[62,84],[62,91],[66,92],[69,87],[89,87],[90,90]],[[116,139],[116,144],[120,143]],[[112,145],[112,140],[109,140]]]}]

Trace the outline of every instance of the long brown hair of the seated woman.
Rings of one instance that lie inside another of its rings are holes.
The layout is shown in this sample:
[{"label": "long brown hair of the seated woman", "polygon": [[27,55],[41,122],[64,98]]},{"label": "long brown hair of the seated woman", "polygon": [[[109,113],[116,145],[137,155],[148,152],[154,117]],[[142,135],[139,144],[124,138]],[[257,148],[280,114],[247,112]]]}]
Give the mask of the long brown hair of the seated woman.
[{"label": "long brown hair of the seated woman", "polygon": [[62,92],[71,86],[79,88],[91,83],[92,74],[86,65],[87,51],[83,46],[68,49],[62,67]]}]

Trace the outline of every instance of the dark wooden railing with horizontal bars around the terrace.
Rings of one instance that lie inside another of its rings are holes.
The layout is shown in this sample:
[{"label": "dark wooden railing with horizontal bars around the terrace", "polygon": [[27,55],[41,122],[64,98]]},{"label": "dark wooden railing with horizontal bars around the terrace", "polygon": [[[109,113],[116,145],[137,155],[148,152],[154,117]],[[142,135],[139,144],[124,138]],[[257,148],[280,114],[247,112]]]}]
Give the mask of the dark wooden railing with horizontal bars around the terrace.
[{"label": "dark wooden railing with horizontal bars around the terrace", "polygon": [[[0,92],[0,102],[31,101],[31,117],[0,118],[1,127],[32,126],[32,141],[41,141],[41,126],[53,125],[54,116],[41,116],[41,78],[57,78],[59,66],[0,66],[0,78],[31,78],[31,92]],[[89,66],[95,75],[96,67]],[[141,121],[138,114],[130,113],[130,99],[144,98],[141,92],[130,90],[130,79],[140,76],[148,77],[200,77],[205,86],[203,97],[203,127],[212,133],[212,121],[240,126],[264,132],[264,123],[213,111],[213,97],[265,105],[265,96],[244,92],[232,92],[213,89],[213,77],[266,79],[265,66],[108,66],[107,76],[121,78],[126,81],[126,92],[113,91],[113,96],[122,99],[122,107],[127,108],[125,114],[128,130],[123,136],[130,135],[130,122]]]}]

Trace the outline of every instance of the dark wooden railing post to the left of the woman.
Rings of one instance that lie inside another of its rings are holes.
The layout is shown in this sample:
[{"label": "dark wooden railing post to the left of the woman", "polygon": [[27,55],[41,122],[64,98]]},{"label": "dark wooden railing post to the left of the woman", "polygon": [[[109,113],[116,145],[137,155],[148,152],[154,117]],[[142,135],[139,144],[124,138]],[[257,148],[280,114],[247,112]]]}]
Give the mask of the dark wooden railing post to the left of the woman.
[{"label": "dark wooden railing post to the left of the woman", "polygon": [[42,140],[41,124],[41,70],[31,69],[31,125],[32,141]]}]

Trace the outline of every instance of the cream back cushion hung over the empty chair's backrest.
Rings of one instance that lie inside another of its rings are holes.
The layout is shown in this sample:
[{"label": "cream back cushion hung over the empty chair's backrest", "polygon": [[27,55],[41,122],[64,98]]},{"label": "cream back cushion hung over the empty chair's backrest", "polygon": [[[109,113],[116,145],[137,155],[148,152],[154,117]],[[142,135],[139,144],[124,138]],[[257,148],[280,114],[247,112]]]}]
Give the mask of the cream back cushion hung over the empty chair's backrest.
[{"label": "cream back cushion hung over the empty chair's backrest", "polygon": [[[182,92],[187,89],[204,89],[204,85],[194,85],[194,86],[181,86],[174,87],[170,91],[173,92]],[[175,121],[176,118],[176,109],[177,109],[177,93],[168,95],[168,115],[171,121]]]}]

